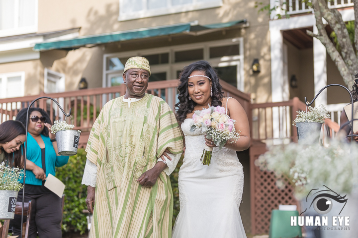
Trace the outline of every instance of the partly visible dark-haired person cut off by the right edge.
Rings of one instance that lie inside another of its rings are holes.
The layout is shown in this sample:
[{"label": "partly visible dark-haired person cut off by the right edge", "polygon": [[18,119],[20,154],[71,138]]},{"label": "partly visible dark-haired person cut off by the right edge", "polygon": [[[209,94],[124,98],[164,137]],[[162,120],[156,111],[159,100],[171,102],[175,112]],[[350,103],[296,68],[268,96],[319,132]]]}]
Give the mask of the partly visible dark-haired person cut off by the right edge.
[{"label": "partly visible dark-haired person cut off by the right edge", "polygon": [[[358,119],[358,72],[355,74],[354,78],[354,84],[352,87],[352,96],[353,96],[353,106],[354,106],[354,119]],[[351,121],[352,119],[352,104],[348,104],[346,107],[344,107],[342,113],[341,113],[341,128],[338,131],[338,137],[341,140],[345,140],[345,137],[347,135],[351,134]],[[353,121],[353,132],[354,134],[358,134],[358,120]],[[354,136],[353,139],[358,142],[358,136]],[[351,141],[351,138],[348,137],[346,140]]]}]

